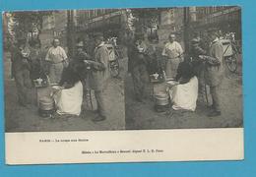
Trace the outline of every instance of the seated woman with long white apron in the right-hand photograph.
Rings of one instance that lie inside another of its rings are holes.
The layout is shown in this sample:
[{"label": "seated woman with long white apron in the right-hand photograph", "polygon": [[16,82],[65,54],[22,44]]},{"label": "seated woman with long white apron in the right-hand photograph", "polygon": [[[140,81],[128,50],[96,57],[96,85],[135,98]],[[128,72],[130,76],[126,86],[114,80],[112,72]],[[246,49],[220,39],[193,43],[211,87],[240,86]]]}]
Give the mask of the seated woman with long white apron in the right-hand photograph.
[{"label": "seated woman with long white apron in the right-hand photograph", "polygon": [[170,98],[174,110],[185,109],[195,111],[198,96],[198,80],[190,62],[179,64],[176,76],[178,85],[172,87]]}]

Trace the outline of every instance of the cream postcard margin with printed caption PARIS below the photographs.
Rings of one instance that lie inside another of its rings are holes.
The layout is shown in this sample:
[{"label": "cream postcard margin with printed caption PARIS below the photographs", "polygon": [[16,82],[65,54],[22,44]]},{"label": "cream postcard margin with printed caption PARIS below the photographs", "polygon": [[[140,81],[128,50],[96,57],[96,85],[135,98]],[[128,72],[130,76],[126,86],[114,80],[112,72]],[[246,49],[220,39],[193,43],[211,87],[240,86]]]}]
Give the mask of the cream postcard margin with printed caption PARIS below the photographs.
[{"label": "cream postcard margin with printed caption PARIS below the photographs", "polygon": [[243,128],[5,133],[6,163],[241,160]]}]

